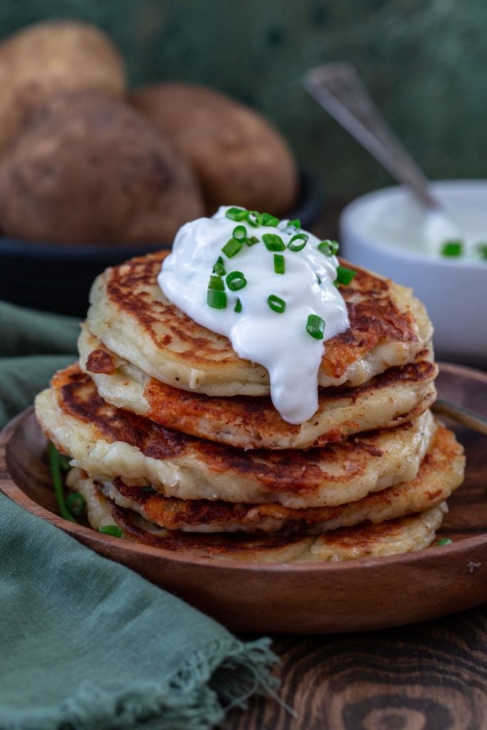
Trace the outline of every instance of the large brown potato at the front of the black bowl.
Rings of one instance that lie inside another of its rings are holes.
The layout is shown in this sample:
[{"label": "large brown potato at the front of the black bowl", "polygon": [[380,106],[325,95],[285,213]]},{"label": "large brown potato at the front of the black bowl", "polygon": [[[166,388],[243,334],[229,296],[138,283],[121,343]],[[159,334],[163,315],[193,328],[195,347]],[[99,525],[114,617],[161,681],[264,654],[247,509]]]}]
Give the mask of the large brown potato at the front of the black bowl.
[{"label": "large brown potato at the front of the black bowl", "polygon": [[0,160],[0,220],[12,237],[170,242],[203,212],[195,177],[171,142],[99,92],[49,101]]}]

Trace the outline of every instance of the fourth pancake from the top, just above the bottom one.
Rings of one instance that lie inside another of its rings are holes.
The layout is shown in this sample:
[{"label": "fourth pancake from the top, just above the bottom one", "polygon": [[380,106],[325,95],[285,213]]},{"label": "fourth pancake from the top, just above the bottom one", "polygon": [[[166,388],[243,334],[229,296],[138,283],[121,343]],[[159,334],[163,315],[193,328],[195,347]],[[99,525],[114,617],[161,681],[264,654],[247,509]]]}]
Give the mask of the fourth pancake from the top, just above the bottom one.
[{"label": "fourth pancake from the top, just above the bottom one", "polygon": [[[115,477],[112,483],[99,484],[99,488],[119,507],[134,510],[148,522],[168,530],[316,535],[363,522],[377,524],[436,507],[459,487],[464,465],[463,448],[453,432],[440,425],[413,481],[337,507],[296,510],[282,504],[172,499],[150,486],[126,485],[120,477]],[[69,483],[76,489],[83,473],[80,469],[72,472]]]}]

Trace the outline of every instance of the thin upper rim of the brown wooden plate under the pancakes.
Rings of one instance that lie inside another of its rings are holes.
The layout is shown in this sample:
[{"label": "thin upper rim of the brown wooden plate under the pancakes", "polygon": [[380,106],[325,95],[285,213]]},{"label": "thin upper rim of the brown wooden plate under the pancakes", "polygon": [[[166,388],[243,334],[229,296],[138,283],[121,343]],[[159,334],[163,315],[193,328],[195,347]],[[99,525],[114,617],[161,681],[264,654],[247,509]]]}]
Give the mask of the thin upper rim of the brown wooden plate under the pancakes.
[{"label": "thin upper rim of the brown wooden plate under the pancakes", "polygon": [[[464,365],[457,365],[453,363],[440,362],[440,372],[447,372],[452,375],[459,375],[461,377],[468,377],[474,380],[478,380],[480,383],[487,385],[487,373],[481,372],[474,368],[470,368]],[[6,455],[7,455],[7,444],[12,434],[17,429],[18,424],[28,418],[34,411],[34,406],[28,406],[26,409],[21,411],[15,418],[4,426],[4,429],[0,432],[0,471],[4,470],[8,474]],[[91,528],[83,525],[74,525],[74,523],[65,520],[59,515],[55,515],[54,512],[46,510],[45,507],[41,507],[40,504],[34,502],[27,494],[15,484],[12,478],[9,480],[2,480],[0,477],[0,491],[6,494],[13,502],[16,502],[28,510],[32,514],[47,520],[54,526],[63,529],[70,535],[75,536],[77,534],[83,535],[88,538],[91,542],[99,542],[101,545],[116,545],[118,549],[122,547],[120,545],[120,539],[116,537],[110,537],[110,535],[104,535],[97,533]],[[248,561],[233,560],[231,558],[224,558],[218,560],[218,558],[204,558],[200,556],[185,556],[181,553],[174,553],[172,550],[164,550],[164,548],[153,548],[150,545],[141,545],[137,543],[131,543],[123,541],[123,549],[129,552],[139,553],[141,555],[147,555],[151,557],[166,558],[166,560],[174,561],[176,563],[191,564],[202,567],[211,567],[212,569],[227,570],[229,568],[236,571],[243,570],[245,572],[264,572],[264,573],[310,573],[317,572],[322,574],[323,572],[363,572],[364,569],[380,568],[381,566],[386,567],[391,564],[403,565],[403,564],[415,564],[425,561],[427,558],[436,558],[444,561],[449,561],[452,555],[461,556],[462,553],[469,553],[475,548],[479,548],[483,545],[487,546],[487,533],[481,535],[475,535],[474,537],[467,537],[462,539],[460,542],[448,545],[448,550],[444,547],[430,547],[427,550],[418,550],[413,553],[404,553],[396,556],[386,556],[381,558],[356,558],[350,561],[337,561],[337,562],[326,562],[326,563],[251,563]]]}]

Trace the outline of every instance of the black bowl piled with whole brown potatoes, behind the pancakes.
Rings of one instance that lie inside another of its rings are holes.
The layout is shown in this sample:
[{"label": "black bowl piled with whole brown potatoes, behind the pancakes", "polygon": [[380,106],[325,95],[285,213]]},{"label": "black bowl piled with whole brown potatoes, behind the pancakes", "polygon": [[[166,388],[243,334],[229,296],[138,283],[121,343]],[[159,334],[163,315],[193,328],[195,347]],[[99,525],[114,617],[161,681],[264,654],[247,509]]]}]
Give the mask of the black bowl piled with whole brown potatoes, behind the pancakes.
[{"label": "black bowl piled with whole brown potatoes, behind the pancakes", "polygon": [[261,115],[188,83],[129,93],[93,26],[25,28],[0,45],[2,70],[1,299],[83,315],[104,268],[170,247],[221,204],[307,227],[321,212],[320,186]]}]

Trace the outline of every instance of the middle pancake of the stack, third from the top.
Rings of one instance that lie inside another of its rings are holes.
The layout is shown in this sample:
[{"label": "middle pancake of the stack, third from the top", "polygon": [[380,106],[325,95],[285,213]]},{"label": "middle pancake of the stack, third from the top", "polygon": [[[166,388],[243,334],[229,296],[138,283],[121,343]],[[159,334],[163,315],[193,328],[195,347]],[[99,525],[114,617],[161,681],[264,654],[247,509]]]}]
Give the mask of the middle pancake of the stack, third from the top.
[{"label": "middle pancake of the stack, third from the top", "polygon": [[107,404],[73,365],[39,393],[45,434],[91,476],[153,485],[178,499],[277,502],[322,507],[354,502],[412,480],[432,440],[429,411],[394,429],[369,431],[312,450],[243,451],[166,429]]}]

